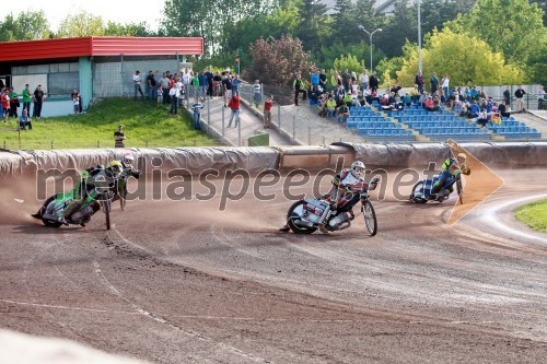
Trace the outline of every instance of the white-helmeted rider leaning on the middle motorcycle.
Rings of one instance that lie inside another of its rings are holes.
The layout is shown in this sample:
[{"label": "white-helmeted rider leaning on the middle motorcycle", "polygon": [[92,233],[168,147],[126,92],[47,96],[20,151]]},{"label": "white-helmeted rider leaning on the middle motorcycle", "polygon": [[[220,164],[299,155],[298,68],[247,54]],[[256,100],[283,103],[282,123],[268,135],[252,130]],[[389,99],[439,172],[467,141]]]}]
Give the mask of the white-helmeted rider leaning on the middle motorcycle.
[{"label": "white-helmeted rider leaning on the middle motorcycle", "polygon": [[[330,197],[331,206],[330,210],[331,211],[337,211],[338,213],[341,212],[349,212],[351,214],[350,220],[354,219],[354,213],[353,213],[353,206],[359,202],[359,193],[353,195],[350,201],[348,201],[342,208],[338,209],[338,203],[340,202],[341,198],[348,192],[348,186],[354,185],[359,180],[362,180],[364,177],[364,172],[365,172],[365,166],[364,163],[361,161],[356,161],[351,164],[349,168],[344,168],[341,169],[334,178],[333,178],[333,188],[330,189],[330,193],[326,195],[325,198]],[[325,227],[324,223],[318,224],[319,231],[322,233],[327,233],[327,230]],[[288,232],[290,230],[288,223],[286,223],[280,231],[282,232]]]}]

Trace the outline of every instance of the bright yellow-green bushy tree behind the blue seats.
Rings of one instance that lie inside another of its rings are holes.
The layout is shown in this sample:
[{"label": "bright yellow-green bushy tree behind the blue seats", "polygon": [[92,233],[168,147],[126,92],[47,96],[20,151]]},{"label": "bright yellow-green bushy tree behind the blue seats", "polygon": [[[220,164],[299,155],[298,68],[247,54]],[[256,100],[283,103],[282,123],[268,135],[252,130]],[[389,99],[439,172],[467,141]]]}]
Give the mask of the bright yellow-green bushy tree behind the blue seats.
[{"label": "bright yellow-green bushy tree behind the blue seats", "polygon": [[[399,85],[410,86],[418,70],[418,51],[416,46],[405,47],[409,57],[397,77]],[[450,28],[433,31],[422,49],[422,60],[426,78],[447,72],[454,85],[517,84],[524,78],[522,70],[505,64],[503,55],[492,51],[484,40]]]}]

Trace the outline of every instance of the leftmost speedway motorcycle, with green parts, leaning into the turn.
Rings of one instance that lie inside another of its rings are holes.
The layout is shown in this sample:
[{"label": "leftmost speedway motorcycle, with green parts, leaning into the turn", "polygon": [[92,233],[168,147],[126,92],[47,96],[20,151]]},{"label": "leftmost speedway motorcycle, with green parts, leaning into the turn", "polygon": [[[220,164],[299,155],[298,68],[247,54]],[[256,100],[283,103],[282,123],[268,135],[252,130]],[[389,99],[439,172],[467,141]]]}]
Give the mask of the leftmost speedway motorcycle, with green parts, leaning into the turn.
[{"label": "leftmost speedway motorcycle, with green parts, leaning into the turn", "polygon": [[[110,201],[116,191],[117,178],[106,168],[95,168],[90,175],[80,183],[80,189],[83,193],[83,199],[78,208],[70,216],[66,218],[69,225],[85,226],[91,221],[91,218],[98,210],[103,210],[106,220],[106,230],[110,230]],[[69,193],[56,193],[49,197],[42,208],[32,216],[42,220],[44,225],[50,227],[59,227],[62,222],[59,216],[62,215],[65,209],[74,201],[75,190]]]}]

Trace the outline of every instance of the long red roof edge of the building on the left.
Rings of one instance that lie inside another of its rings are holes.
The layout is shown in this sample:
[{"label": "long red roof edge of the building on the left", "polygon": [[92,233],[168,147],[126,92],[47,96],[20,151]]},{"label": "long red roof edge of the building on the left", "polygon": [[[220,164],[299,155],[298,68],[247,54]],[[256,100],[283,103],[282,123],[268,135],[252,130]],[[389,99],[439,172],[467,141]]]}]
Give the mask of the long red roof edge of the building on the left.
[{"label": "long red roof edge of the building on the left", "polygon": [[202,55],[198,37],[83,37],[0,43],[0,62],[89,56]]}]

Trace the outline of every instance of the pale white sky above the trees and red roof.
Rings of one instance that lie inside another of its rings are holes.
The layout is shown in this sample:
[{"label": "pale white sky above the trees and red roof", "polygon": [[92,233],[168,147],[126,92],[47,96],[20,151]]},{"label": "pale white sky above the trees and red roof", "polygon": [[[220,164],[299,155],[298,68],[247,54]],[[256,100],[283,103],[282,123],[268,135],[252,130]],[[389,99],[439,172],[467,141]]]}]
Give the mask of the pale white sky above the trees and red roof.
[{"label": "pale white sky above the trees and red roof", "polygon": [[[138,7],[136,7],[138,3]],[[149,30],[156,31],[162,17],[165,0],[44,0],[44,1],[2,1],[0,21],[12,13],[18,16],[23,11],[43,10],[51,31],[57,32],[61,21],[69,14],[81,10],[101,16],[106,23],[140,23],[146,22]]]}]

